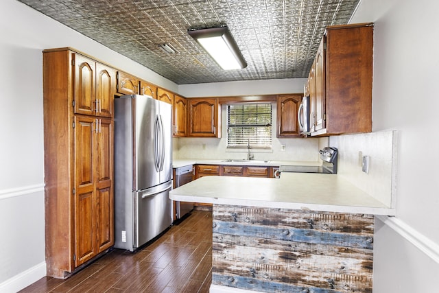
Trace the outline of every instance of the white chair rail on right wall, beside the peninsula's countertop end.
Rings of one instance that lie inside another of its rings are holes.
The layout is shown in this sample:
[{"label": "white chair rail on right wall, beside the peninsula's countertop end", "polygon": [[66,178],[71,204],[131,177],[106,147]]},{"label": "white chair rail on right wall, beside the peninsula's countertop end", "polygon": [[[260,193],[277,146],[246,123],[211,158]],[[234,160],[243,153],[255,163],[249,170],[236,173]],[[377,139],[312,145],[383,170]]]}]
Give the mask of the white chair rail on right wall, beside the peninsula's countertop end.
[{"label": "white chair rail on right wall, beside the peninsula's countertop end", "polygon": [[436,263],[439,263],[439,245],[436,242],[431,241],[431,239],[425,237],[425,235],[419,233],[402,220],[399,220],[399,218],[387,217],[385,215],[377,215],[377,218],[436,261]]}]

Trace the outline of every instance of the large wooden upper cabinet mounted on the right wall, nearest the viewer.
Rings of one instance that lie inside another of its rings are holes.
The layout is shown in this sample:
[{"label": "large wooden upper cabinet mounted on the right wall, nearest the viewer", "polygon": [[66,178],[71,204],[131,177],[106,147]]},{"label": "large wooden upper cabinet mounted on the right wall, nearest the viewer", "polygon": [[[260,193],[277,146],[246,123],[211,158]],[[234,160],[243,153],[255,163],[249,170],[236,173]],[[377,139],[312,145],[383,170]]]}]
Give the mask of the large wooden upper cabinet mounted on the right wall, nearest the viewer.
[{"label": "large wooden upper cabinet mounted on the right wall, nearest the viewer", "polygon": [[372,23],[327,27],[315,60],[312,136],[372,131],[373,30]]}]

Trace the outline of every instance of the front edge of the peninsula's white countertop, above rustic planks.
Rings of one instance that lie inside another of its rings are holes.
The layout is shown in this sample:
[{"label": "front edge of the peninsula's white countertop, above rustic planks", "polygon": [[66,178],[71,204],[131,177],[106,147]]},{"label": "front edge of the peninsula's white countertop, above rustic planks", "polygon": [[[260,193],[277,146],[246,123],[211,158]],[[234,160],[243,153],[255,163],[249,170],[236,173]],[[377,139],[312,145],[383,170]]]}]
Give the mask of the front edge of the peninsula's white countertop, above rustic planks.
[{"label": "front edge of the peninsula's white countertop, above rustic planks", "polygon": [[[172,192],[172,191],[171,191]],[[230,204],[244,207],[268,207],[274,209],[302,209],[308,211],[331,211],[338,213],[366,213],[368,215],[396,215],[395,209],[380,207],[353,207],[332,204],[306,204],[298,202],[275,202],[266,200],[240,200],[230,198],[208,198],[201,196],[179,196],[169,193],[171,200],[200,202],[206,204]]]}]

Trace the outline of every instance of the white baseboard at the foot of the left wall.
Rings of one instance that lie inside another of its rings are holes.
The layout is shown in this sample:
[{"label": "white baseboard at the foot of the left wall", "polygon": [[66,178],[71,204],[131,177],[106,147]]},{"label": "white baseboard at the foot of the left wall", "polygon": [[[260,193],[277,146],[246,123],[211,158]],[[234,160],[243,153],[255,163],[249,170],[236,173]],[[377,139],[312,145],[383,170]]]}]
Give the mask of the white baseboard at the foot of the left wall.
[{"label": "white baseboard at the foot of the left wall", "polygon": [[46,276],[46,262],[39,263],[32,268],[0,283],[0,292],[14,293],[26,288]]}]

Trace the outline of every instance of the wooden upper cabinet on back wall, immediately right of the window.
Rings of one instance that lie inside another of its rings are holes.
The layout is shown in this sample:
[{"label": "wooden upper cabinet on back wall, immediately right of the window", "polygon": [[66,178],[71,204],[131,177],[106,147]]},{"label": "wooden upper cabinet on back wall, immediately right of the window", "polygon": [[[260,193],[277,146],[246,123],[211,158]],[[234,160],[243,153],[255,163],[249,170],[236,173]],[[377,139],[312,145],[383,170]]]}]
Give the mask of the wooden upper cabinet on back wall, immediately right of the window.
[{"label": "wooden upper cabinet on back wall, immediately right of the window", "polygon": [[277,137],[300,137],[298,108],[302,94],[278,95]]}]

